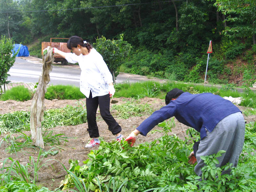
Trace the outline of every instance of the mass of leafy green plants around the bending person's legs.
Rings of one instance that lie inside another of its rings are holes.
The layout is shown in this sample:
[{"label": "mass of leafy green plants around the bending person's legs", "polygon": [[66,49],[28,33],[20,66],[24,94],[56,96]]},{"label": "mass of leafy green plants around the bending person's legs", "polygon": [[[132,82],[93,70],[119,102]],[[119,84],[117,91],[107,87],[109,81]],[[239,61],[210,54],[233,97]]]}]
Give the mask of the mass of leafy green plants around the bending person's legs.
[{"label": "mass of leafy green plants around the bending person's legs", "polygon": [[[166,124],[165,124],[166,125]],[[186,144],[175,135],[165,134],[150,143],[130,147],[126,141],[102,141],[98,150],[88,154],[83,166],[70,160],[70,169],[61,183],[62,190],[75,187],[74,175],[83,180],[91,191],[108,191],[120,187],[122,192],[172,191],[172,192],[255,192],[256,123],[246,125],[244,149],[238,166],[227,164],[217,168],[217,154],[202,156],[203,180],[196,176],[194,166],[188,164],[193,144]],[[231,169],[231,174],[221,174]],[[113,180],[115,181],[113,183]]]}]

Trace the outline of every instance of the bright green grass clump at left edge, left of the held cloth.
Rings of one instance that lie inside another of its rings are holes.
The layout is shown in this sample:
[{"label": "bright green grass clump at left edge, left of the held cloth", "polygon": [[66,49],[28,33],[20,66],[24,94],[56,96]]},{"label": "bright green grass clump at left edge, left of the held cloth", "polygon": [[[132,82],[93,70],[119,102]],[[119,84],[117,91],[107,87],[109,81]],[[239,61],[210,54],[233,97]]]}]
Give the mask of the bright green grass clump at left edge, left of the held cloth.
[{"label": "bright green grass clump at left edge, left of the held cloth", "polygon": [[27,101],[30,100],[32,92],[25,88],[24,85],[19,85],[12,87],[10,90],[7,90],[4,94],[1,95],[0,100],[16,100],[16,101]]}]

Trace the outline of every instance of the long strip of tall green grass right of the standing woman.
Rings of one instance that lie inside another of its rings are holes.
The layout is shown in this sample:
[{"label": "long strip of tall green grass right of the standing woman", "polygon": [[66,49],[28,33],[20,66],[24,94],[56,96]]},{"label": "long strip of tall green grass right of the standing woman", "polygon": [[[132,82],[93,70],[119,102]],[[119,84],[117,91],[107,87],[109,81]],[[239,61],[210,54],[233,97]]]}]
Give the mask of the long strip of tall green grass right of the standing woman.
[{"label": "long strip of tall green grass right of the standing woman", "polygon": [[115,97],[143,98],[147,96],[164,99],[166,93],[171,91],[173,88],[178,88],[192,94],[211,92],[213,94],[218,94],[221,97],[243,97],[244,100],[241,102],[241,106],[256,108],[256,93],[253,91],[250,91],[249,93],[237,92],[236,90],[223,90],[218,89],[217,87],[208,87],[204,85],[187,83],[175,83],[170,81],[163,84],[154,81],[140,83],[125,82],[122,84],[116,84]]}]

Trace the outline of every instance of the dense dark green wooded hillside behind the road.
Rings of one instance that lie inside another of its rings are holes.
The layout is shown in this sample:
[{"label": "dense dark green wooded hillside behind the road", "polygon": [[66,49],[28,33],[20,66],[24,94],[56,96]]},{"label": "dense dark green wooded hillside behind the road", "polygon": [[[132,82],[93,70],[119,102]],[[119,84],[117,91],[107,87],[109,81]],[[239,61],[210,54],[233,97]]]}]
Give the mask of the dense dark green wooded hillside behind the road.
[{"label": "dense dark green wooded hillside behind the road", "polygon": [[255,0],[0,0],[0,34],[41,56],[50,37],[97,37],[132,45],[121,72],[251,86],[256,71]]}]

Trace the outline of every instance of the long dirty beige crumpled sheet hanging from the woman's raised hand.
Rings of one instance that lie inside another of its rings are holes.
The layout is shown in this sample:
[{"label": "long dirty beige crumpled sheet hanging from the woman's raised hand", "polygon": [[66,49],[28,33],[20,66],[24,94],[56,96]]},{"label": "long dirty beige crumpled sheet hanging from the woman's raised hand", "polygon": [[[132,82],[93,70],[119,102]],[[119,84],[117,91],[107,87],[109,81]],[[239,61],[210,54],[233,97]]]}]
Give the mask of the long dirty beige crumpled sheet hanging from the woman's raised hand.
[{"label": "long dirty beige crumpled sheet hanging from the woman's raised hand", "polygon": [[44,140],[42,136],[42,121],[44,120],[44,95],[46,92],[46,84],[50,81],[53,63],[52,47],[44,49],[42,74],[39,76],[39,82],[36,93],[31,103],[30,113],[30,131],[33,145],[44,148]]}]

